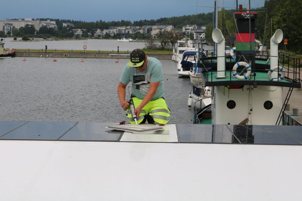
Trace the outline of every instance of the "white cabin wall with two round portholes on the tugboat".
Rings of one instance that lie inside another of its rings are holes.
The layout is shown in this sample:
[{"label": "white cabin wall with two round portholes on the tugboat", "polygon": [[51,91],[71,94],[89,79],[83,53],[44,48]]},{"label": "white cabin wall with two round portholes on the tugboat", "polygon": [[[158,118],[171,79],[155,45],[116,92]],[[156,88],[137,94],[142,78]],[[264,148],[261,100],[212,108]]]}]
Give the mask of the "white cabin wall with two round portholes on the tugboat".
[{"label": "white cabin wall with two round portholes on the tugboat", "polygon": [[[229,101],[235,102],[233,109],[227,107]],[[271,109],[264,107],[267,101],[271,102]],[[248,118],[251,125],[275,125],[283,104],[282,87],[258,86],[250,90],[249,86],[239,89],[217,86],[214,87],[214,103],[213,124],[239,124]]]}]

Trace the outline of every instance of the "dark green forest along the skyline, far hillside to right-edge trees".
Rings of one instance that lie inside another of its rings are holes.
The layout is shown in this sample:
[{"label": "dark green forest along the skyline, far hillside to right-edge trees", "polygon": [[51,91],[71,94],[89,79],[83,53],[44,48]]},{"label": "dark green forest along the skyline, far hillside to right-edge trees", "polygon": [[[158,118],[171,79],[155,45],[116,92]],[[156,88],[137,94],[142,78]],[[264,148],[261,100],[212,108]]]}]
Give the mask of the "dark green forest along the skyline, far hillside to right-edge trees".
[{"label": "dark green forest along the skyline, far hillside to right-edge trees", "polygon": [[[262,43],[269,43],[272,34],[277,29],[281,29],[284,32],[284,37],[288,39],[287,49],[294,52],[302,52],[302,26],[298,25],[302,19],[302,3],[301,0],[265,0],[264,7],[267,10],[259,10],[258,16],[255,23],[255,38],[260,40]],[[243,8],[244,9],[244,8]],[[193,10],[193,8],[192,8]],[[49,18],[40,18],[41,21],[48,20]],[[74,21],[65,19],[50,19],[56,21],[58,31],[54,31],[52,28],[41,27],[40,30],[35,33],[32,28],[21,27],[19,30],[14,30],[14,36],[29,35],[29,37],[74,37],[70,30],[63,27],[63,23],[72,23],[74,27],[72,29],[86,29],[88,32],[93,33],[93,29],[108,29],[109,27],[117,26],[144,26],[144,25],[155,25],[155,24],[171,24],[176,29],[181,29],[186,24],[196,24],[197,26],[207,25],[205,31],[205,37],[211,39],[213,31],[213,19],[214,13],[201,13],[184,15],[180,17],[171,18],[159,18],[157,20],[140,20],[134,21],[96,21],[96,22],[85,22],[85,21]],[[222,31],[224,37],[234,38],[236,34],[236,24],[234,20],[233,10],[221,9],[218,13],[218,28]],[[43,28],[43,29],[42,29]],[[36,34],[36,35],[34,35]],[[136,35],[141,38],[146,38],[141,34]],[[0,37],[5,37],[3,31],[0,31]],[[88,33],[85,33],[84,37],[88,37]],[[117,38],[116,35],[107,38]],[[190,36],[192,37],[192,36]],[[283,42],[282,42],[283,43]],[[232,45],[230,43],[230,45]],[[233,44],[234,45],[234,44]]]}]

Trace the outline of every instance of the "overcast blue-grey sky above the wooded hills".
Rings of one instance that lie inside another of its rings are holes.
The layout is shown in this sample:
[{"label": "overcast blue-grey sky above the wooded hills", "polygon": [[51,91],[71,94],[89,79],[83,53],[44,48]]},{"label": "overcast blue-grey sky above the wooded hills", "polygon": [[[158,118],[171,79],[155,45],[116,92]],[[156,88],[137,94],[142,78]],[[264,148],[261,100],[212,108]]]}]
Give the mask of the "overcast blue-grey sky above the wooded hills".
[{"label": "overcast blue-grey sky above the wooded hills", "polygon": [[[250,1],[251,8],[264,5],[264,0]],[[236,0],[219,0],[218,4],[219,6],[236,6]],[[238,4],[246,7],[249,0],[238,0]],[[2,0],[0,20],[59,18],[86,22],[97,20],[133,22],[214,11],[213,8],[197,7],[197,5],[214,6],[214,0]]]}]

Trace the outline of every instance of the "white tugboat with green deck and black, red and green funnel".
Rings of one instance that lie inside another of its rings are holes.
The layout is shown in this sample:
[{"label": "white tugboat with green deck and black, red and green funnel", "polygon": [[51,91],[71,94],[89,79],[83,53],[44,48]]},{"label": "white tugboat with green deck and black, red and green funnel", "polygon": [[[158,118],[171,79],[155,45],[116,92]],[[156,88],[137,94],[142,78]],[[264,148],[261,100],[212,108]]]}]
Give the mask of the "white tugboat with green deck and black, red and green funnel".
[{"label": "white tugboat with green deck and black, red and green funnel", "polygon": [[[212,88],[212,104],[210,111],[207,106],[195,112],[194,123],[208,122],[203,116],[207,110],[211,124],[283,125],[281,120],[291,92],[301,88],[300,59],[278,53],[278,43],[283,40],[281,29],[270,39],[269,55],[259,55],[260,49],[255,50],[257,12],[237,10],[234,16],[236,56],[225,55],[223,34],[214,29],[217,55],[202,56],[198,62],[203,87]],[[284,101],[283,87],[289,88]]]}]

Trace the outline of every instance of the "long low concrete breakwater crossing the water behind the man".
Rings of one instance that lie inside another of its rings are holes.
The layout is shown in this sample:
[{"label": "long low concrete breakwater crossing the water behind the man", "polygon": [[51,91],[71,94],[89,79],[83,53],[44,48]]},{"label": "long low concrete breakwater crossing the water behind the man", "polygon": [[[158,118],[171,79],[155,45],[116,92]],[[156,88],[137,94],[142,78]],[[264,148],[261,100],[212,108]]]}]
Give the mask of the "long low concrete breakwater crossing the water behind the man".
[{"label": "long low concrete breakwater crossing the water behind the man", "polygon": [[[173,54],[146,53],[147,56],[156,59],[172,59]],[[87,52],[23,52],[16,51],[15,56],[20,57],[65,57],[65,58],[112,58],[112,59],[127,59],[130,58],[130,53],[87,53]]]}]

